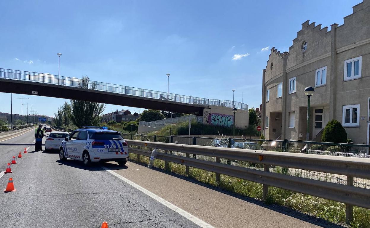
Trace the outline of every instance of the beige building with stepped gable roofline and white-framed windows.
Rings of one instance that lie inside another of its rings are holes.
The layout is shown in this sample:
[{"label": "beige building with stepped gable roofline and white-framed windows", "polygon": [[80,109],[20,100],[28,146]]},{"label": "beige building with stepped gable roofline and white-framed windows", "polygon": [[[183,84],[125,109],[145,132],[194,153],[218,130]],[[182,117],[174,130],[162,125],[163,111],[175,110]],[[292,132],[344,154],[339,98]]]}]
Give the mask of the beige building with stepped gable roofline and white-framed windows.
[{"label": "beige building with stepped gable roofline and white-framed windows", "polygon": [[370,0],[330,31],[306,21],[289,52],[271,49],[262,71],[266,139],[306,140],[304,90],[312,86],[309,140],[320,141],[327,122],[337,119],[354,143],[369,144]]}]

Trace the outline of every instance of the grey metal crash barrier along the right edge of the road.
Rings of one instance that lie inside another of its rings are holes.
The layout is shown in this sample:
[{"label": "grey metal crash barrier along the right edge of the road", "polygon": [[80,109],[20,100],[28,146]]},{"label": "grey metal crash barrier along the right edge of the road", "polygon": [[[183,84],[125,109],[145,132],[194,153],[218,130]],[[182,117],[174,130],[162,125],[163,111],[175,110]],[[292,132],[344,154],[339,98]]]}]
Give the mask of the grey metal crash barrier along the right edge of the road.
[{"label": "grey metal crash barrier along the right edge of the road", "polygon": [[[347,222],[352,219],[353,205],[370,209],[370,189],[353,186],[354,177],[370,179],[369,159],[194,146],[139,140],[126,141],[130,146],[129,152],[138,154],[138,156],[151,156],[148,150],[140,149],[141,147],[157,149],[159,152],[163,150],[163,152],[158,153],[157,158],[165,161],[165,167],[168,167],[168,162],[182,164],[186,166],[186,174],[189,174],[189,167],[194,167],[215,172],[216,180],[218,181],[220,178],[219,174],[225,174],[263,184],[263,198],[266,198],[268,194],[268,187],[273,186],[345,203]],[[133,146],[137,146],[137,148]],[[171,154],[168,154],[169,151],[171,151]],[[186,154],[186,156],[174,155],[173,152]],[[190,154],[193,154],[192,158],[190,158]],[[213,157],[215,160],[196,159],[194,155]],[[263,166],[263,170],[235,166],[231,163],[222,164],[220,163],[220,159],[260,164]],[[272,166],[345,175],[347,176],[347,184],[330,183],[324,180],[274,173],[271,170],[269,171]]]}]

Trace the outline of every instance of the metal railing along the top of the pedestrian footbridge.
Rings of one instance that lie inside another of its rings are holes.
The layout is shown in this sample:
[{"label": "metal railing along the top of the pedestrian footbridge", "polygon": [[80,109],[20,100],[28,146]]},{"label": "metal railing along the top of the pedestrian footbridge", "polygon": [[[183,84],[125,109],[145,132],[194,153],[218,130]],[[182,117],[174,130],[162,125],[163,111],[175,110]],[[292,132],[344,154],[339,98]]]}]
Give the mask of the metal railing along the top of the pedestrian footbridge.
[{"label": "metal railing along the top of the pedestrian footbridge", "polygon": [[[63,86],[70,86],[74,88],[79,88],[82,83],[82,79],[79,79],[79,78],[70,78],[70,77],[58,76],[58,75],[53,75],[53,74],[19,71],[19,70],[4,69],[4,68],[0,68],[0,78],[14,79],[14,80],[20,80],[20,81],[27,81],[27,82],[40,82],[40,83],[52,84],[52,85],[63,85]],[[154,91],[154,90],[149,90],[149,89],[140,89],[140,88],[135,88],[131,86],[115,85],[115,84],[110,84],[110,83],[105,83],[105,82],[90,81],[88,88],[93,88],[93,87],[95,87],[95,90],[97,91],[120,93],[124,95],[152,98],[152,99],[158,99],[162,101],[194,104],[198,106],[216,105],[216,106],[225,106],[229,108],[235,107],[238,109],[248,110],[248,105],[241,103],[241,102],[236,102],[236,101],[233,102],[233,101],[228,101],[228,100],[198,98],[198,97],[193,97],[193,96],[178,95],[174,93],[159,92],[159,91]]]}]

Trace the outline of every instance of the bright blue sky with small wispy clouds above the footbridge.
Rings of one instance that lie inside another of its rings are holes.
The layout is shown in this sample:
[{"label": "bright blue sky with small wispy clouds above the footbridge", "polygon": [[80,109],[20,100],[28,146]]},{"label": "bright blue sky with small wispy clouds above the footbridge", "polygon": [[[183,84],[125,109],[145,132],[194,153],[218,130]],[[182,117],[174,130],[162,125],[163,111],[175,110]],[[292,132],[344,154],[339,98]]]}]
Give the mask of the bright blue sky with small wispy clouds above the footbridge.
[{"label": "bright blue sky with small wispy clouds above the footbridge", "polygon": [[[236,89],[235,101],[243,92],[259,107],[270,48],[288,51],[306,20],[343,24],[360,2],[1,1],[0,68],[57,75],[60,52],[63,76],[167,91],[170,73],[172,93],[232,100]],[[49,116],[64,102],[26,97]],[[13,113],[20,109],[14,99]],[[10,112],[10,94],[0,93],[0,111]]]}]

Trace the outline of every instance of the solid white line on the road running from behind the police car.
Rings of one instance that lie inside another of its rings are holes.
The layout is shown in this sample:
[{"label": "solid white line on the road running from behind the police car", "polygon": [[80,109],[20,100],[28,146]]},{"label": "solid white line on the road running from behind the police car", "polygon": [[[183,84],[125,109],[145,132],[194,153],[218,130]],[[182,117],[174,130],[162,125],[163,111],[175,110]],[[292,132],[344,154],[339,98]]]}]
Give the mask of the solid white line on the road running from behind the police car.
[{"label": "solid white line on the road running from behind the police car", "polygon": [[206,223],[205,221],[195,217],[194,215],[182,210],[181,208],[179,207],[176,207],[176,205],[174,204],[171,204],[169,203],[168,201],[166,201],[165,199],[159,197],[158,195],[152,193],[151,191],[139,186],[138,184],[135,184],[134,182],[122,177],[120,174],[117,174],[115,173],[114,171],[108,169],[107,167],[104,167],[102,166],[103,169],[107,170],[109,173],[111,173],[112,175],[120,178],[121,180],[125,181],[127,184],[131,185],[132,187],[136,188],[137,190],[139,191],[142,191],[143,193],[149,195],[150,197],[152,197],[154,200],[157,200],[159,203],[165,205],[166,207],[170,208],[171,210],[177,212],[178,214],[184,216],[185,218],[187,218],[188,220],[194,222],[196,225],[202,227],[202,228],[214,228],[213,226],[209,225],[208,223]]}]

